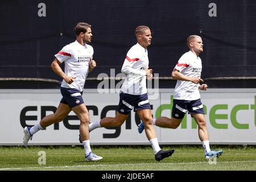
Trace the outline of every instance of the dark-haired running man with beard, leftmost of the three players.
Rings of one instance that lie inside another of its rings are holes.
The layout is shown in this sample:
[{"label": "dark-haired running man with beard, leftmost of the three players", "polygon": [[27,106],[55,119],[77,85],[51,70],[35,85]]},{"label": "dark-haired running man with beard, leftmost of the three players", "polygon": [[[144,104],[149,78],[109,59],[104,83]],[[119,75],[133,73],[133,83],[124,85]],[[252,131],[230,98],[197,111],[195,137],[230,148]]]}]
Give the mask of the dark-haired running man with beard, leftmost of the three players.
[{"label": "dark-haired running man with beard, leftmost of the three players", "polygon": [[[47,115],[33,127],[24,128],[24,146],[27,147],[28,140],[32,139],[39,130],[46,128],[56,122],[61,122],[73,110],[80,119],[80,135],[85,150],[85,160],[94,162],[101,160],[101,156],[93,154],[89,140],[89,111],[82,99],[82,91],[88,73],[96,67],[93,58],[93,47],[88,43],[92,40],[92,30],[88,23],[77,23],[75,27],[76,41],[64,46],[55,55],[52,61],[52,70],[63,78],[60,92],[63,98],[54,114]],[[65,63],[65,72],[62,71],[60,64]]]}]

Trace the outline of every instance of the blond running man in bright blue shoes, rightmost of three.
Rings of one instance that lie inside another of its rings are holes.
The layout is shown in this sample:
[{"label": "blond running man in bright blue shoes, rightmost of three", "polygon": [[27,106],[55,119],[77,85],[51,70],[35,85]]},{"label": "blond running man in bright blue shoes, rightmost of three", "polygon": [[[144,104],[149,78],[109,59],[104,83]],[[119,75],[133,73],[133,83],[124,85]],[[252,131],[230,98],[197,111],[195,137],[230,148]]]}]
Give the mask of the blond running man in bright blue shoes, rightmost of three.
[{"label": "blond running man in bright blue shoes, rightmost of three", "polygon": [[[203,40],[198,35],[191,35],[187,39],[187,45],[190,51],[184,53],[171,77],[177,80],[174,90],[174,101],[172,106],[172,118],[160,117],[153,120],[154,125],[176,129],[179,127],[185,114],[191,114],[199,126],[199,138],[203,144],[205,159],[220,156],[222,150],[212,151],[209,146],[209,134],[205,121],[203,104],[200,99],[200,90],[207,90],[207,84],[201,84],[202,63],[199,54],[203,52]],[[144,130],[144,124],[140,123],[139,133]]]}]

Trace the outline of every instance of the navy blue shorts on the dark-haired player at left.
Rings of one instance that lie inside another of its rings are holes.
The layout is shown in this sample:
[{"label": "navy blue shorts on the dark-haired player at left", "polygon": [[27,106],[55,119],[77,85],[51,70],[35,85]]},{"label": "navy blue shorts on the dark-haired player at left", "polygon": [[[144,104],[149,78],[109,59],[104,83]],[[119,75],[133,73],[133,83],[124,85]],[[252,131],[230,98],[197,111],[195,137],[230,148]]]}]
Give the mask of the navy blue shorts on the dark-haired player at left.
[{"label": "navy blue shorts on the dark-haired player at left", "polygon": [[68,104],[71,108],[84,104],[84,100],[82,100],[82,92],[79,90],[60,87],[60,92],[63,96],[60,103]]}]

